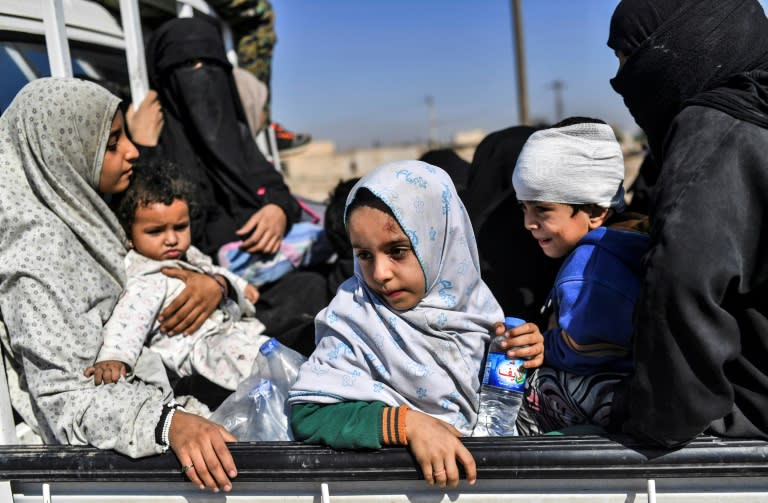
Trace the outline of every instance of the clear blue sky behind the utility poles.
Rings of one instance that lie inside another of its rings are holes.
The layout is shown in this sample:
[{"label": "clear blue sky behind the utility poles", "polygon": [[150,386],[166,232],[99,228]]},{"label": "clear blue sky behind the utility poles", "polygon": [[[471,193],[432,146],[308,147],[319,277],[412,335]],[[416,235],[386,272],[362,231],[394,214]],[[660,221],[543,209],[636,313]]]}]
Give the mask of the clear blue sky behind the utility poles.
[{"label": "clear blue sky behind the utility poles", "polygon": [[[617,0],[523,0],[529,113],[637,127],[609,79],[606,46]],[[437,132],[518,124],[509,0],[273,0],[278,43],[273,119],[339,148],[424,140],[425,97]]]}]

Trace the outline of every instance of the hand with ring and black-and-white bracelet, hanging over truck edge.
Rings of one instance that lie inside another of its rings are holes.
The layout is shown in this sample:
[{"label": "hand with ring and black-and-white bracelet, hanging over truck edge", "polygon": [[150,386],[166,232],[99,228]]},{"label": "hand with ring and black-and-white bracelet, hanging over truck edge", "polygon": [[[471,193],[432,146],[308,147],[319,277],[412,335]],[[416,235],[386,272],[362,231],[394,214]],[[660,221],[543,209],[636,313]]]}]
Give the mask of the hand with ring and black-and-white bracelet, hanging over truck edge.
[{"label": "hand with ring and black-and-white bracelet, hanging over truck edge", "polygon": [[186,467],[183,473],[198,488],[213,492],[232,490],[237,467],[226,443],[236,441],[220,424],[181,410],[174,412],[168,431],[168,443]]}]

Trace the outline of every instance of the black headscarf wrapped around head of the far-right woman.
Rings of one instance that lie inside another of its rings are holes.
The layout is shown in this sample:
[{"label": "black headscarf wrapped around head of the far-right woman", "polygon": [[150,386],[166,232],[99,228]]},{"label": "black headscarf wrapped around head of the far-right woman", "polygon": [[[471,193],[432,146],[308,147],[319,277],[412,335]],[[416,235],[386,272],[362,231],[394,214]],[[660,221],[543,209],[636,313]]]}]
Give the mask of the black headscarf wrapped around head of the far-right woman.
[{"label": "black headscarf wrapped around head of the far-right woman", "polygon": [[629,57],[611,85],[658,160],[684,106],[759,117],[745,111],[754,107],[749,96],[761,102],[754,85],[763,77],[750,81],[748,72],[768,69],[768,20],[757,0],[622,0],[608,46]]}]

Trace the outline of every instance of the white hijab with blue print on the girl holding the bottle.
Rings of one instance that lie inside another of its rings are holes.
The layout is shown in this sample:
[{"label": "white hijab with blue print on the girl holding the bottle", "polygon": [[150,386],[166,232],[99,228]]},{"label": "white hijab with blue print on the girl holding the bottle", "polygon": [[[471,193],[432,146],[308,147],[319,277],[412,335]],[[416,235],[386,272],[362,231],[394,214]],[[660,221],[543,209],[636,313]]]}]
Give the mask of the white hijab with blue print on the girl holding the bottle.
[{"label": "white hijab with blue print on the girl holding the bottle", "polygon": [[477,246],[450,177],[419,161],[385,164],[365,187],[411,240],[426,295],[396,311],[373,293],[355,258],[348,279],[315,318],[317,348],[301,367],[289,403],[363,400],[407,404],[464,434],[477,420],[479,372],[503,313],[480,279]]}]

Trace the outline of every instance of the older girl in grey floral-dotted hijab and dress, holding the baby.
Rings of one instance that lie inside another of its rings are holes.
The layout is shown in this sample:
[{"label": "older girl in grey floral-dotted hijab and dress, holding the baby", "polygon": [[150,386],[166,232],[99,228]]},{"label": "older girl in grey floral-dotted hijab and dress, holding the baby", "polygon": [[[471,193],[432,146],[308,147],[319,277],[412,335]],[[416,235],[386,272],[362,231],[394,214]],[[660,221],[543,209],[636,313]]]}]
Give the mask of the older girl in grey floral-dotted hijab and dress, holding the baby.
[{"label": "older girl in grey floral-dotted hijab and dress, holding the baby", "polygon": [[[45,78],[0,117],[0,340],[13,407],[46,443],[131,457],[170,446],[198,487],[229,490],[234,437],[176,409],[156,355],[144,351],[133,377],[109,386],[82,375],[125,283],[125,235],[101,195],[127,188],[138,155],[118,105],[96,84]],[[197,276],[215,307],[218,286]],[[208,309],[194,304],[182,310]]]}]

